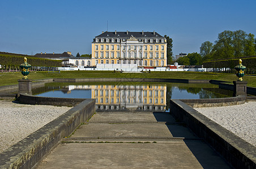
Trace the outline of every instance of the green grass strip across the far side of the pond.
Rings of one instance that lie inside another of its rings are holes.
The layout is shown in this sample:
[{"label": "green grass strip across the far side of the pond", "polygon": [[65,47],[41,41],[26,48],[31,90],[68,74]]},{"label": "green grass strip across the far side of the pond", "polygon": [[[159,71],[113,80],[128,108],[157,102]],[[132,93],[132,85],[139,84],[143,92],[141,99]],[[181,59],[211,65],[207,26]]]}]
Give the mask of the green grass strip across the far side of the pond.
[{"label": "green grass strip across the far side of the pond", "polygon": [[[0,86],[18,84],[22,79],[21,73],[1,73]],[[31,72],[29,79],[47,78],[173,78],[173,79],[214,79],[219,81],[236,81],[235,74],[228,73],[206,73],[206,72],[151,72],[151,73],[120,73],[113,71],[61,71],[61,73]],[[245,75],[244,81],[248,86],[256,87],[256,76]]]}]

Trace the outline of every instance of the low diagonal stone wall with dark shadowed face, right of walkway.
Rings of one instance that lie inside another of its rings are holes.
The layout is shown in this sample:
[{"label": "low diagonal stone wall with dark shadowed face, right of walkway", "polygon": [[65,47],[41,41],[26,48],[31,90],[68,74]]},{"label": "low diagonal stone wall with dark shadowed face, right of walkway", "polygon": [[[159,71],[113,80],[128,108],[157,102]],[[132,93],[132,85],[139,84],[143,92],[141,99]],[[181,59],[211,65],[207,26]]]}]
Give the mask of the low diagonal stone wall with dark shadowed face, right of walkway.
[{"label": "low diagonal stone wall with dark shadowed face, right of walkway", "polygon": [[170,100],[170,113],[203,138],[234,168],[256,168],[255,146],[211,121],[181,100]]}]

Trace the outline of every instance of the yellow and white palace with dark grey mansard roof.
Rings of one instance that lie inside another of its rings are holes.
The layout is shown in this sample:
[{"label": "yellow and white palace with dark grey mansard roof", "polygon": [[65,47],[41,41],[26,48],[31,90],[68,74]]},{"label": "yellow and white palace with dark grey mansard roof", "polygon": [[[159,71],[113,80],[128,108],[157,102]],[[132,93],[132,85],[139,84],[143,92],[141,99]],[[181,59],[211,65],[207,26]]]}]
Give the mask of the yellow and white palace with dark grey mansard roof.
[{"label": "yellow and white palace with dark grey mansard roof", "polygon": [[93,39],[91,64],[167,66],[167,41],[155,31],[103,32]]}]

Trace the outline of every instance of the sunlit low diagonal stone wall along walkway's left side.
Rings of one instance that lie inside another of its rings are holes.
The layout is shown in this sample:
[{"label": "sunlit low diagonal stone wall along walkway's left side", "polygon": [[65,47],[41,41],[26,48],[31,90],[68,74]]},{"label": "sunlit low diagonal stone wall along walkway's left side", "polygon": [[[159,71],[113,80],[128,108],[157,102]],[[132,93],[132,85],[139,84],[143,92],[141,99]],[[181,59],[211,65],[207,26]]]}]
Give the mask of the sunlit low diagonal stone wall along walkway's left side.
[{"label": "sunlit low diagonal stone wall along walkway's left side", "polygon": [[95,113],[95,100],[86,99],[19,143],[0,153],[0,168],[32,168]]}]

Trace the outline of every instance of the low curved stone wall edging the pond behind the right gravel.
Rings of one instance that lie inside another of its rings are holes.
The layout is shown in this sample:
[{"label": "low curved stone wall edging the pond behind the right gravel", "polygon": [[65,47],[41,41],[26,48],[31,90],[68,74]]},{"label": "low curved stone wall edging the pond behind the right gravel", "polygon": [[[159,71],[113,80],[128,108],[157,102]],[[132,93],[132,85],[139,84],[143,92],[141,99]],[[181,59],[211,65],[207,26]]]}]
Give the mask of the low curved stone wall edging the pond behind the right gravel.
[{"label": "low curved stone wall edging the pond behind the right gravel", "polygon": [[238,97],[224,97],[215,99],[180,99],[183,103],[191,106],[192,108],[203,108],[203,107],[216,107],[216,106],[229,106],[244,104],[246,96]]}]

